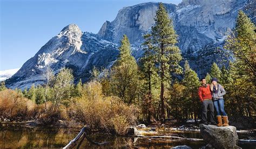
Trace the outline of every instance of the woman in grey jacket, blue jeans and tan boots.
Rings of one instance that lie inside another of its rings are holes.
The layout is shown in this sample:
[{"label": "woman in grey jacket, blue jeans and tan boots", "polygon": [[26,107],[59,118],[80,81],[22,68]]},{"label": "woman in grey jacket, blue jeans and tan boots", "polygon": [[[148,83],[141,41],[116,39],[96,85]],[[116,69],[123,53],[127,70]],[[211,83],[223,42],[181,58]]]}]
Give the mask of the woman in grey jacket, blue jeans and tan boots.
[{"label": "woman in grey jacket, blue jeans and tan boots", "polygon": [[[217,111],[217,119],[218,124],[217,126],[228,126],[228,119],[227,114],[224,110],[224,98],[223,96],[226,94],[226,91],[224,90],[223,86],[218,84],[218,79],[216,77],[213,77],[211,80],[211,93],[212,93],[212,100],[215,107],[215,110]],[[224,123],[222,122],[221,116],[223,118]]]}]

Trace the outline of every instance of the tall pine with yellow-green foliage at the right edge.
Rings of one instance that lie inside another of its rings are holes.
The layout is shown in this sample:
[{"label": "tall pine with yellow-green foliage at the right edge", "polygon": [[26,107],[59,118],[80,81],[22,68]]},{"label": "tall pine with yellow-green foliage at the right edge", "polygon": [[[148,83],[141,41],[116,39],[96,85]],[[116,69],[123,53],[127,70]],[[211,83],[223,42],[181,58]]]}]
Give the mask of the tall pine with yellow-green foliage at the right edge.
[{"label": "tall pine with yellow-green foliage at the right edge", "polygon": [[240,10],[235,29],[228,32],[224,46],[235,57],[235,61],[231,63],[231,69],[229,70],[233,80],[232,85],[225,88],[227,93],[230,93],[226,96],[225,106],[228,112],[235,115],[251,117],[255,113],[255,43],[255,25]]}]

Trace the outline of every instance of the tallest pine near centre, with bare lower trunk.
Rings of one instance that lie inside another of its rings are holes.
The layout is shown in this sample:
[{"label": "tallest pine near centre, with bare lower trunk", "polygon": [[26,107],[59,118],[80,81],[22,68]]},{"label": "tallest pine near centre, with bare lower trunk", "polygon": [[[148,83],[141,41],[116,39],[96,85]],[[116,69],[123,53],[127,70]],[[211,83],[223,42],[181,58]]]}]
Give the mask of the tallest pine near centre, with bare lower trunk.
[{"label": "tallest pine near centre, with bare lower trunk", "polygon": [[155,25],[152,26],[152,44],[153,51],[156,54],[156,65],[160,77],[160,103],[161,103],[161,122],[165,120],[165,90],[170,84],[170,74],[176,71],[179,61],[181,60],[177,44],[177,34],[173,29],[172,20],[169,18],[164,4],[159,3],[156,12]]}]

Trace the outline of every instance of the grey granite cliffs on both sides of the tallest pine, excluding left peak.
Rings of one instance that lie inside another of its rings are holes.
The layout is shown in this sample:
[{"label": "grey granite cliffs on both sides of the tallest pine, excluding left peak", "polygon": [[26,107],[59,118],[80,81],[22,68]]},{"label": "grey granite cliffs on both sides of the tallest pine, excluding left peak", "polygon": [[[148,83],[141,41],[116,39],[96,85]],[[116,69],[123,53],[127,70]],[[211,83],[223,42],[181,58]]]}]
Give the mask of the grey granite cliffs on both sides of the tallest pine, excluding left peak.
[{"label": "grey granite cliffs on both sides of the tallest pine, excluding left peak", "polygon": [[[181,54],[199,77],[206,75],[213,61],[221,67],[227,64],[223,60],[232,59],[222,48],[225,33],[228,28],[234,28],[240,9],[255,23],[255,5],[252,0],[184,0],[178,6],[165,4],[179,36]],[[143,34],[154,24],[157,6],[156,3],[144,3],[120,10],[113,22],[104,23],[99,37],[119,44],[122,34],[127,34],[131,44],[139,47]],[[142,54],[138,50],[134,55]]]}]

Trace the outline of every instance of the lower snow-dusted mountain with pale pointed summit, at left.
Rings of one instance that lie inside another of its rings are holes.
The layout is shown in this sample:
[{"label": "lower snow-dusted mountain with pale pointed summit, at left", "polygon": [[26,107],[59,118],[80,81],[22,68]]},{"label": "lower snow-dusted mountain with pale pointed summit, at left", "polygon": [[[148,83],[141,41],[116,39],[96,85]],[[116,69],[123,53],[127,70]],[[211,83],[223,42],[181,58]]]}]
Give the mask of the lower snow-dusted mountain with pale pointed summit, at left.
[{"label": "lower snow-dusted mountain with pale pointed summit, at left", "polygon": [[98,39],[80,31],[70,24],[49,40],[21,69],[6,80],[10,88],[25,88],[32,84],[43,84],[43,73],[50,66],[54,73],[64,67],[72,68],[75,81],[89,79],[90,70],[95,67],[109,67],[116,60],[118,49],[112,42]]}]

